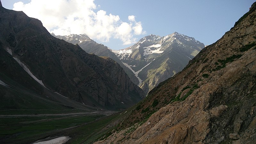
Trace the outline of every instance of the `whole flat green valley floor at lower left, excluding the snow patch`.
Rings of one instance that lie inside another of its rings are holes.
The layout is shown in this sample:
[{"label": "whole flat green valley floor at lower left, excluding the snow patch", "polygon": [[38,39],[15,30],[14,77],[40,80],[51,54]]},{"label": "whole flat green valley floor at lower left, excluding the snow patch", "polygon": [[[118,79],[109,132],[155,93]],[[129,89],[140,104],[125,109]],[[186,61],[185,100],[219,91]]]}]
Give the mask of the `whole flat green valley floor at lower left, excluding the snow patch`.
[{"label": "whole flat green valley floor at lower left, excluding the snow patch", "polygon": [[[119,113],[111,111],[0,115],[0,143],[92,143]],[[60,137],[65,136],[65,139]],[[55,139],[56,138],[56,139]],[[54,140],[53,140],[54,139]],[[51,141],[48,141],[51,140]]]}]

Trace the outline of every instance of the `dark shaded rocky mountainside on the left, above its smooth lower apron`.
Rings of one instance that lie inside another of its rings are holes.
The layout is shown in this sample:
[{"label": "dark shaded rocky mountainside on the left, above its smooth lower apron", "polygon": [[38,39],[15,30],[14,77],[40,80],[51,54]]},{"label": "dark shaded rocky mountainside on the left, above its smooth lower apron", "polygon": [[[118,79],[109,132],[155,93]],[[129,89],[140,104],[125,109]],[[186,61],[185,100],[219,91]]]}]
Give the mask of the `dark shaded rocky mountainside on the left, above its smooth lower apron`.
[{"label": "dark shaded rocky mountainside on the left, above its smooth lower apron", "polygon": [[[17,83],[45,97],[45,91],[51,91],[87,106],[114,110],[144,98],[114,60],[88,54],[51,36],[39,20],[2,6],[0,45],[0,79],[10,87]],[[0,86],[3,102],[9,90]]]}]

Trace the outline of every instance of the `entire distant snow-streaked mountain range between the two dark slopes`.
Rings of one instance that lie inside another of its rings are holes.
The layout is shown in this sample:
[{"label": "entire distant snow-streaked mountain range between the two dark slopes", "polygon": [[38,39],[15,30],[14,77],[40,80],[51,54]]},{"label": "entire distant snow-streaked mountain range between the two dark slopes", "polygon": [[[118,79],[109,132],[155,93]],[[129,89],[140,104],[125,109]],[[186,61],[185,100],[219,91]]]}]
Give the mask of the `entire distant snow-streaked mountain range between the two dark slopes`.
[{"label": "entire distant snow-streaked mountain range between the two dark slopes", "polygon": [[139,85],[146,93],[160,82],[180,72],[188,61],[204,48],[204,44],[193,37],[177,32],[163,37],[145,36],[123,50],[112,50],[86,35],[55,37],[79,44],[85,52],[108,56],[115,60],[124,68],[133,83]]}]

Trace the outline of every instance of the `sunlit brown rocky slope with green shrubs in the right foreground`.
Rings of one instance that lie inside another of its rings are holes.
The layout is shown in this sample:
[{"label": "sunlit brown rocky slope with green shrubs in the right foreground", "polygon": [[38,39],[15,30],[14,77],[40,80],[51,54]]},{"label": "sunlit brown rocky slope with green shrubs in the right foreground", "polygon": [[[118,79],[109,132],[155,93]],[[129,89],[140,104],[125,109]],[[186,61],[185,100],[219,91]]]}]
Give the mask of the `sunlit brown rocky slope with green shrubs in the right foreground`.
[{"label": "sunlit brown rocky slope with green shrubs in the right foreground", "polygon": [[256,143],[255,6],[96,143]]}]

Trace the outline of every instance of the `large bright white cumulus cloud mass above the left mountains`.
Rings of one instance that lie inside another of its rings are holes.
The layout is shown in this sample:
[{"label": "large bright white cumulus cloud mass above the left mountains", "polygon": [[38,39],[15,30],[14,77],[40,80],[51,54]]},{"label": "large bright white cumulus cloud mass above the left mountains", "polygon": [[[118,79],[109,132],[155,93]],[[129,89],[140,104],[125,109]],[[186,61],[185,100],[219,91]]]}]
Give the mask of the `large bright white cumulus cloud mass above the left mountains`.
[{"label": "large bright white cumulus cloud mass above the left mountains", "polygon": [[127,23],[118,15],[107,14],[99,8],[94,0],[31,0],[28,4],[13,4],[13,10],[41,20],[44,27],[55,35],[86,34],[102,42],[113,37],[126,45],[136,42],[135,35],[145,34],[135,16],[128,16]]}]

